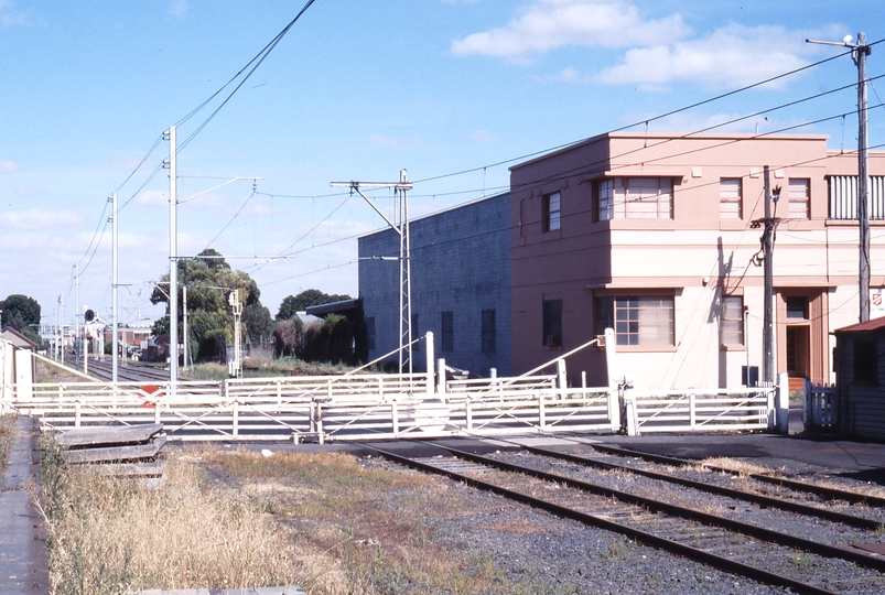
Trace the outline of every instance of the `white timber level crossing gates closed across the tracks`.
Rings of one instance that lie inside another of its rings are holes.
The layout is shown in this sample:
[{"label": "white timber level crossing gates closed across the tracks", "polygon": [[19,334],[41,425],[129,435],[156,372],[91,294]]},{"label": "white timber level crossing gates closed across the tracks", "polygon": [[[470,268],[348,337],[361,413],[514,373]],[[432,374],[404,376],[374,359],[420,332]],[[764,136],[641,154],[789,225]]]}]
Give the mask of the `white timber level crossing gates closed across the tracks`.
[{"label": "white timber level crossing gates closed across the tracks", "polygon": [[[432,345],[430,333],[424,338]],[[614,336],[606,345],[609,370],[615,369]],[[533,370],[520,377],[478,380],[446,380],[431,369],[413,375],[152,382],[150,387],[84,379],[34,383],[20,391],[9,382],[14,378],[4,376],[0,413],[35,415],[48,430],[161,423],[172,441],[323,443],[777,426],[777,387],[661,394],[633,391],[617,381],[607,387],[569,387],[565,358],[571,353],[550,363],[557,369],[553,375]],[[432,355],[431,348],[428,361],[433,361]],[[439,360],[436,369],[444,366]]]}]

